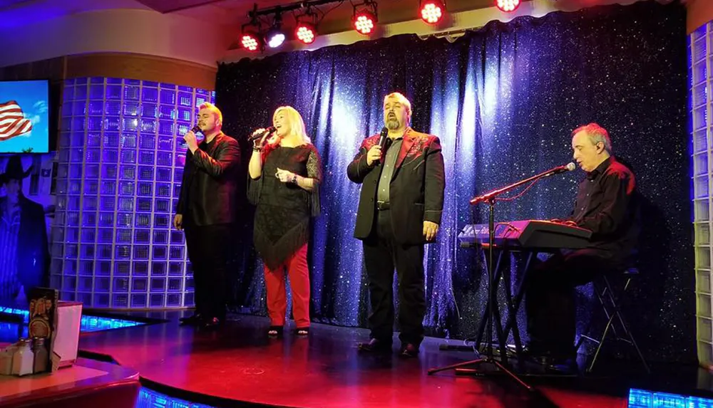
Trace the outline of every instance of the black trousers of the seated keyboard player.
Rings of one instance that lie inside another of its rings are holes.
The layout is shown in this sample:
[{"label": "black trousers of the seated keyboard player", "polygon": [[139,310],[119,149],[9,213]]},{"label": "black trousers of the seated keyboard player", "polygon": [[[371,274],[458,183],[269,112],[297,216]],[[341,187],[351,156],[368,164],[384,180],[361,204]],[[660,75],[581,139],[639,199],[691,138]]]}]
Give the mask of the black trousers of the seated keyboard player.
[{"label": "black trousers of the seated keyboard player", "polygon": [[575,287],[615,270],[595,249],[555,253],[530,270],[525,293],[529,348],[555,357],[571,357],[575,338]]}]

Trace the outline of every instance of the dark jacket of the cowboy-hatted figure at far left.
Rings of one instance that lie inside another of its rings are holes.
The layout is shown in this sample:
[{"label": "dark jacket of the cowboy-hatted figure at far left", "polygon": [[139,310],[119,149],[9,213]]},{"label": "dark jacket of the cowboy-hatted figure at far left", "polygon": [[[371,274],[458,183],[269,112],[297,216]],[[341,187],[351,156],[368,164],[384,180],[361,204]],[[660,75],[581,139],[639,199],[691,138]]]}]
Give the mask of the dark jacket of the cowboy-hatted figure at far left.
[{"label": "dark jacket of the cowboy-hatted figure at far left", "polygon": [[[7,198],[0,200],[0,217]],[[48,285],[49,246],[44,209],[20,197],[20,231],[17,236],[17,277],[26,290]]]}]

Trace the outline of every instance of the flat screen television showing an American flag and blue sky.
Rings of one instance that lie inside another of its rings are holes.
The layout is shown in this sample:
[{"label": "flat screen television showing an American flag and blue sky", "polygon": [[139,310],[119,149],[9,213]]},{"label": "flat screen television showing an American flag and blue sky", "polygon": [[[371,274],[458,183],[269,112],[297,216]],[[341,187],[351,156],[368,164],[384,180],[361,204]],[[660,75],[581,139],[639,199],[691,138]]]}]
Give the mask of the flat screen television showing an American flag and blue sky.
[{"label": "flat screen television showing an American flag and blue sky", "polygon": [[49,152],[49,81],[0,81],[0,154]]}]

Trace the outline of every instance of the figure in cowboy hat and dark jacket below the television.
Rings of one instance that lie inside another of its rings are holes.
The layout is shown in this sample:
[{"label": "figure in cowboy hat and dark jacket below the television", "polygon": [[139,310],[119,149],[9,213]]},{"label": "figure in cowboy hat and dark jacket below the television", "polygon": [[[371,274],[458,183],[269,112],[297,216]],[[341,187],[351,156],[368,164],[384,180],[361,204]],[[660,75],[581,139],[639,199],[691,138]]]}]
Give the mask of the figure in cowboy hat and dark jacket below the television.
[{"label": "figure in cowboy hat and dark jacket below the television", "polygon": [[12,156],[0,174],[0,300],[17,298],[22,286],[26,300],[37,286],[47,286],[49,249],[44,209],[22,194],[22,180],[29,176],[21,158]]}]

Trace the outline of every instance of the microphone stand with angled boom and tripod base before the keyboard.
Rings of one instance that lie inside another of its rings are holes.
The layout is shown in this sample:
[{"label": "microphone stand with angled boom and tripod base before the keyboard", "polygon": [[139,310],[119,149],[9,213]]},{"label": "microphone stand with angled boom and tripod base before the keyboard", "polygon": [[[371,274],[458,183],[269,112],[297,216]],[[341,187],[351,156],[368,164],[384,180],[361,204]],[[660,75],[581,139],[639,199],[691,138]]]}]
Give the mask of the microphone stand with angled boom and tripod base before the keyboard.
[{"label": "microphone stand with angled boom and tripod base before the keyboard", "polygon": [[[542,179],[544,177],[551,176],[553,174],[557,174],[558,172],[563,172],[567,171],[568,169],[564,169],[563,167],[555,167],[554,169],[549,169],[546,172],[542,172],[540,174],[535,174],[533,177],[528,177],[527,179],[520,180],[519,182],[515,182],[513,184],[510,184],[506,187],[501,187],[499,189],[494,189],[491,192],[487,192],[486,194],[483,194],[478,197],[474,197],[471,199],[470,203],[471,204],[479,204],[479,203],[487,203],[488,204],[488,315],[486,316],[486,320],[488,321],[488,324],[486,326],[487,328],[487,338],[488,338],[488,347],[486,348],[485,352],[481,353],[476,350],[476,352],[479,355],[479,358],[476,360],[471,360],[471,361],[466,361],[466,362],[459,362],[457,364],[453,365],[448,365],[446,367],[440,367],[440,368],[431,368],[428,371],[428,374],[434,374],[436,372],[441,372],[444,370],[456,370],[461,367],[466,367],[469,365],[478,365],[483,362],[485,363],[490,363],[491,365],[494,365],[498,370],[501,370],[504,372],[506,375],[511,377],[515,382],[517,382],[519,385],[525,387],[528,391],[534,391],[535,389],[531,386],[525,383],[523,380],[520,380],[520,377],[516,375],[515,373],[511,372],[508,370],[503,363],[506,362],[506,350],[505,350],[505,341],[506,339],[504,338],[503,335],[503,326],[501,325],[500,322],[500,313],[498,313],[496,310],[496,295],[497,295],[497,285],[495,281],[496,277],[496,270],[493,266],[493,255],[494,255],[494,248],[495,248],[495,203],[496,199],[499,195],[509,192],[512,189],[515,189],[517,187],[520,187],[523,184],[527,184],[529,182],[536,182],[539,179]],[[495,324],[495,319],[498,319],[498,325],[496,326],[497,329],[497,334],[498,334],[498,342],[500,343],[500,355],[501,355],[501,361],[496,360],[494,354],[493,354],[493,324]]]}]

